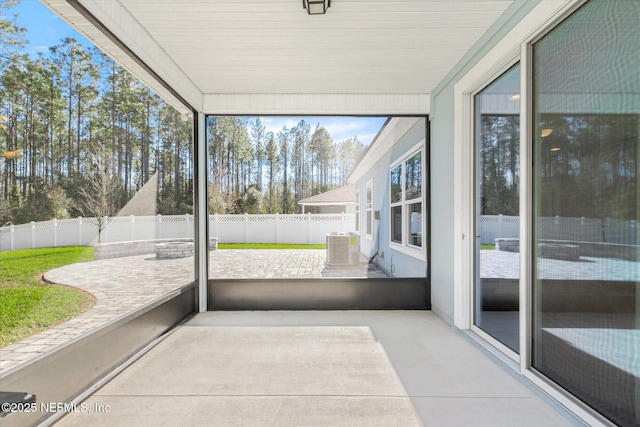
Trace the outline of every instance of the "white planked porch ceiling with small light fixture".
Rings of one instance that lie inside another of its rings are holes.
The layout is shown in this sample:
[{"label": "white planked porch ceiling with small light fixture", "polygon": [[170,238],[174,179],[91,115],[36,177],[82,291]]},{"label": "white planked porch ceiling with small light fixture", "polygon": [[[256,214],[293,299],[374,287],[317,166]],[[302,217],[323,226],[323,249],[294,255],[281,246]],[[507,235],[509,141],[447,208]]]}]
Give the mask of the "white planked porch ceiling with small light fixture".
[{"label": "white planked porch ceiling with small light fixture", "polygon": [[[42,1],[149,82],[65,0]],[[196,109],[327,109],[333,100],[345,111],[428,108],[434,87],[513,3],[333,0],[309,16],[300,0],[76,1]]]}]

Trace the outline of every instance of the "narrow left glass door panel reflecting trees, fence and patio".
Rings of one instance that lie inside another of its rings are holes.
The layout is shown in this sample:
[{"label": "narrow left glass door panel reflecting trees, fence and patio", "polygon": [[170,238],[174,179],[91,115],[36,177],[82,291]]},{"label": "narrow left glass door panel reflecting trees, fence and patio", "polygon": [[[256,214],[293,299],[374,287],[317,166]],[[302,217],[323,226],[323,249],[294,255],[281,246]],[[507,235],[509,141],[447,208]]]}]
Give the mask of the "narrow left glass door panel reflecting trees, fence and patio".
[{"label": "narrow left glass door panel reflecting trees, fence and patio", "polygon": [[474,325],[519,352],[520,65],[475,96]]}]

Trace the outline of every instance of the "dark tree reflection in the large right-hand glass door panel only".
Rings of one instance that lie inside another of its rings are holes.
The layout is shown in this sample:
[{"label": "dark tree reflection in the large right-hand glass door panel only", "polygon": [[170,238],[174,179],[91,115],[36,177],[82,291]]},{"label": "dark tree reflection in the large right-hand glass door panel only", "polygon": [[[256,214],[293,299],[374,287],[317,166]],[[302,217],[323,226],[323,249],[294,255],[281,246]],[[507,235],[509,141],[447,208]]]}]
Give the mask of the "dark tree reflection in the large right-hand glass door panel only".
[{"label": "dark tree reflection in the large right-hand glass door panel only", "polygon": [[637,114],[540,115],[539,214],[636,220],[639,125]]}]

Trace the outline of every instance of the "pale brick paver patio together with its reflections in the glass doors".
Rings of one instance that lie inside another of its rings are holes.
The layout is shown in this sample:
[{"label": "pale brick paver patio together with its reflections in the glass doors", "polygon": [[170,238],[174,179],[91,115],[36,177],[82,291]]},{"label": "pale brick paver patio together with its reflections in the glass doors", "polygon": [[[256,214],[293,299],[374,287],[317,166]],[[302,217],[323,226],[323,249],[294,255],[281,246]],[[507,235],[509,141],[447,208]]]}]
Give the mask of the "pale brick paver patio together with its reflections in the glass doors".
[{"label": "pale brick paver patio together with its reflections in the glass doors", "polygon": [[[212,278],[386,277],[363,264],[327,268],[324,250],[225,249],[210,252]],[[518,278],[519,254],[481,251],[481,277]],[[77,339],[193,281],[193,258],[156,259],[154,255],[72,264],[47,272],[45,279],[90,292],[96,305],[86,313],[0,349],[0,373]],[[539,260],[540,277],[640,281],[640,263],[611,258],[579,261]]]}]

